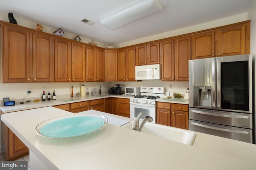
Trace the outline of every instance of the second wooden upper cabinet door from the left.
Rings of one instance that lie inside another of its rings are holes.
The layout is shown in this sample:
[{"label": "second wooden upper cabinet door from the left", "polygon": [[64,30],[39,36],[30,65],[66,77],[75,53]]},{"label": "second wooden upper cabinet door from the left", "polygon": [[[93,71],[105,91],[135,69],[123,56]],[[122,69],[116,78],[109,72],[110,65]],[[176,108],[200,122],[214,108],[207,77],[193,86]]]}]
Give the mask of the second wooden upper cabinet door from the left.
[{"label": "second wooden upper cabinet door from the left", "polygon": [[33,82],[53,82],[53,38],[33,34]]}]

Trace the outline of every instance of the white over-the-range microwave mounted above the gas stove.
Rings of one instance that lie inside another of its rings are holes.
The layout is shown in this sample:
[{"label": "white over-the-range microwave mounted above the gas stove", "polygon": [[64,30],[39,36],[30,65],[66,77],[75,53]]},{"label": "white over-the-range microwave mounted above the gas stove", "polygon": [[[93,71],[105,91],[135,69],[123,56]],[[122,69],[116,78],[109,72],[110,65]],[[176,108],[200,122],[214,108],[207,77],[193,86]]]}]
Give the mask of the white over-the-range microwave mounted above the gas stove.
[{"label": "white over-the-range microwave mounted above the gas stove", "polygon": [[150,64],[144,66],[135,66],[136,80],[161,80],[161,65]]}]

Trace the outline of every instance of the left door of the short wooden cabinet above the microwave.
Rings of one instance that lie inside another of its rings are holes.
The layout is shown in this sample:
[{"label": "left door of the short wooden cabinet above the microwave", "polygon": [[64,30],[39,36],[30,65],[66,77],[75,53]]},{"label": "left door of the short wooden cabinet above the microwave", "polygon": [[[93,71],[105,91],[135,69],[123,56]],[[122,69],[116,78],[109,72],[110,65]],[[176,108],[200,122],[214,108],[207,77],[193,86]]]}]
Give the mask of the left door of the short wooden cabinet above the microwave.
[{"label": "left door of the short wooden cabinet above the microwave", "polygon": [[136,66],[147,65],[147,45],[136,46]]}]

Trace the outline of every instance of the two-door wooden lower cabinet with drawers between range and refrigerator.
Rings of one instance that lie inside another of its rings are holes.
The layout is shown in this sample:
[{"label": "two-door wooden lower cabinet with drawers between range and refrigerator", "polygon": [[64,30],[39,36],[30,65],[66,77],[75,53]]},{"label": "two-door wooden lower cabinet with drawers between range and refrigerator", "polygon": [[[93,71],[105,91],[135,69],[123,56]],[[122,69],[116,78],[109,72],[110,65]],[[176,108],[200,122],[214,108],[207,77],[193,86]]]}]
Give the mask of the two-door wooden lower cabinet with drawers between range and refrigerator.
[{"label": "two-door wooden lower cabinet with drawers between range and refrigerator", "polygon": [[157,102],[156,123],[188,130],[188,105]]}]

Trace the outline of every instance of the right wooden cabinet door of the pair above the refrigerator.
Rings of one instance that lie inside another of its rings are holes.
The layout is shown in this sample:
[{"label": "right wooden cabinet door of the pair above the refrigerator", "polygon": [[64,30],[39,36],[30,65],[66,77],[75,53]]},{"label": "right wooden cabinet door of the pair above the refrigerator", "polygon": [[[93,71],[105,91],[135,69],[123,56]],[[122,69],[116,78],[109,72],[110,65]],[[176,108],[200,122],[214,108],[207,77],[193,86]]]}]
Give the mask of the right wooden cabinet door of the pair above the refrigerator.
[{"label": "right wooden cabinet door of the pair above the refrigerator", "polygon": [[246,54],[245,25],[218,30],[218,56]]}]

